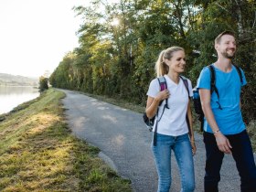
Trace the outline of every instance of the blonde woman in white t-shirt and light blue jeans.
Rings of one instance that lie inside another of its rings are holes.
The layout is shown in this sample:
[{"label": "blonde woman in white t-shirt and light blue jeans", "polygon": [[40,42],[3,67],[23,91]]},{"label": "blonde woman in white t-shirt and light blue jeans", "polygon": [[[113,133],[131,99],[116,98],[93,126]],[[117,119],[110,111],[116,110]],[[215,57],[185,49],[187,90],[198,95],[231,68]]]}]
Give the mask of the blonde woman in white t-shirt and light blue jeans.
[{"label": "blonde woman in white t-shirt and light blue jeans", "polygon": [[[149,118],[156,115],[153,128],[155,132],[155,127],[157,127],[156,144],[152,143],[152,150],[158,173],[158,192],[168,192],[171,187],[170,159],[172,150],[179,166],[181,191],[191,192],[195,189],[193,155],[196,154],[197,148],[192,130],[192,115],[187,88],[180,77],[180,73],[184,72],[185,65],[183,48],[171,47],[162,51],[155,63],[155,70],[157,77],[165,77],[167,89],[160,91],[159,82],[155,79],[151,81],[147,91],[146,115]],[[187,80],[187,84],[189,96],[192,96],[191,81]],[[168,108],[165,107],[165,99],[168,99]],[[159,103],[161,104],[159,105]],[[187,116],[190,126],[187,126]],[[188,132],[188,127],[190,127],[190,132]]]}]

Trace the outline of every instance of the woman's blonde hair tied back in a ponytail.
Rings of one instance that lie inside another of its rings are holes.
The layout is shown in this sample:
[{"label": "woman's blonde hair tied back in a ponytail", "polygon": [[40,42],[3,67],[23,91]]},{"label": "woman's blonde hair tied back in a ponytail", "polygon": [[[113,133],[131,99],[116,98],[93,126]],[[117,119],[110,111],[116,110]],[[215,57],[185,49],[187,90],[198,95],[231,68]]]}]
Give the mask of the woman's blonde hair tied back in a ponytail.
[{"label": "woman's blonde hair tied back in a ponytail", "polygon": [[184,48],[171,47],[171,48],[166,48],[165,50],[162,50],[162,52],[160,53],[155,63],[155,72],[157,77],[164,76],[165,74],[168,73],[169,67],[166,65],[164,59],[168,59],[168,60],[172,59],[174,53],[179,50],[184,51]]}]

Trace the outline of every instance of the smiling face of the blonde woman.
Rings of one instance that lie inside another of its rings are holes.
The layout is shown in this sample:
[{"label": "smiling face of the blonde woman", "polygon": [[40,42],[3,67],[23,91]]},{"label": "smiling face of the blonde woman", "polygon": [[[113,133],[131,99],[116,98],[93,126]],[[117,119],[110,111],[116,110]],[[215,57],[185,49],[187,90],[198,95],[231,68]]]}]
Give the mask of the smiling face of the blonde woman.
[{"label": "smiling face of the blonde woman", "polygon": [[186,65],[185,52],[183,50],[174,52],[171,59],[165,59],[165,63],[169,66],[170,72],[184,72]]}]

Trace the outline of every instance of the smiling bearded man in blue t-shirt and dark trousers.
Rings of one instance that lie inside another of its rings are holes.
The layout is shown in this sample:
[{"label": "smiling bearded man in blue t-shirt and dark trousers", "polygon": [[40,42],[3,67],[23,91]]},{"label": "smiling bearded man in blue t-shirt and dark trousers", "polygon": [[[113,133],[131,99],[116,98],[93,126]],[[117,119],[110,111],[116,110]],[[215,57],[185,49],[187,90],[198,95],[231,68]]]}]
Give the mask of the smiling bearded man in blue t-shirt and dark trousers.
[{"label": "smiling bearded man in blue t-shirt and dark trousers", "polygon": [[231,63],[237,49],[232,32],[224,31],[215,39],[218,60],[213,63],[217,91],[210,91],[210,71],[202,69],[197,81],[202,109],[205,114],[204,143],[206,147],[206,192],[218,192],[219,171],[225,154],[232,155],[240,173],[240,191],[256,191],[256,167],[251,141],[240,112],[240,88],[246,85]]}]

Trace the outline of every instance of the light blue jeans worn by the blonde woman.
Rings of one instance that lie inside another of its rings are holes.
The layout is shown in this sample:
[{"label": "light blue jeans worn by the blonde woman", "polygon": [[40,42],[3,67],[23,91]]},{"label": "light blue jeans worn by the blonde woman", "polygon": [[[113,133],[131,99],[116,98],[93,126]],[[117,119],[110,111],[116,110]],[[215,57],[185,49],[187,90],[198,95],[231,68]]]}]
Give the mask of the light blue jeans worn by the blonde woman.
[{"label": "light blue jeans worn by the blonde woman", "polygon": [[195,189],[194,161],[188,134],[168,136],[156,133],[156,145],[152,144],[155,165],[158,173],[158,192],[169,192],[171,187],[171,151],[176,155],[181,176],[181,191],[191,192]]}]

